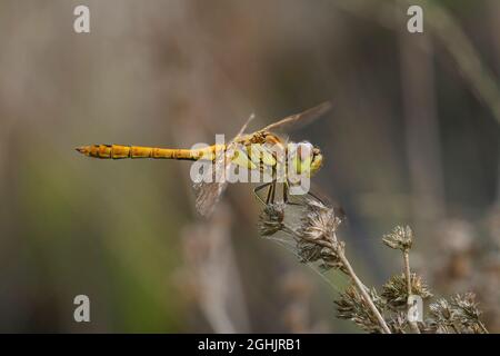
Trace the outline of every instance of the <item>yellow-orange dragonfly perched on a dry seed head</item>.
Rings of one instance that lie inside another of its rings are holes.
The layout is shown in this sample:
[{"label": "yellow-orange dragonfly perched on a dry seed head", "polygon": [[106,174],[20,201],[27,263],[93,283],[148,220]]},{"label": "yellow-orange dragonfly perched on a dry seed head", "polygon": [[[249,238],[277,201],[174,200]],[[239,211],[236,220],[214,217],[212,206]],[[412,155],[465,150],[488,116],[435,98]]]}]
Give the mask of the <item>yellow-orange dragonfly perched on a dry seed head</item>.
[{"label": "yellow-orange dragonfly perched on a dry seed head", "polygon": [[[213,165],[213,171],[222,171],[220,179],[201,179],[193,185],[196,192],[196,208],[202,216],[209,217],[220,196],[228,186],[228,176],[231,165],[246,167],[250,170],[263,171],[271,168],[272,178],[270,181],[262,184],[253,189],[256,197],[264,205],[273,204],[277,199],[278,179],[276,177],[277,166],[280,160],[276,157],[276,150],[272,148],[278,146],[287,150],[287,145],[290,142],[283,135],[277,134],[297,126],[306,126],[317,118],[323,116],[331,109],[331,102],[326,101],[306,111],[288,116],[286,118],[276,120],[254,132],[244,134],[248,125],[252,120],[251,116],[236,137],[228,144],[216,144],[203,148],[196,149],[180,149],[180,148],[160,148],[160,147],[142,147],[130,145],[90,145],[77,147],[77,151],[92,158],[100,159],[126,159],[126,158],[152,158],[152,159],[173,159],[173,160],[206,160]],[[307,142],[308,144],[308,142]],[[312,146],[312,145],[311,145]],[[260,147],[257,151],[251,148]],[[252,155],[253,152],[253,155]],[[230,162],[227,165],[227,162]],[[309,157],[301,157],[297,155],[294,165],[300,170],[308,170],[310,176],[313,176],[320,170],[323,165],[323,155],[321,150],[312,146],[311,155]],[[287,168],[287,164],[284,164]],[[286,169],[284,175],[289,169]],[[266,199],[262,199],[259,191],[268,188]],[[284,177],[282,184],[282,200],[289,202],[290,181]],[[308,192],[313,196],[312,192]]]}]

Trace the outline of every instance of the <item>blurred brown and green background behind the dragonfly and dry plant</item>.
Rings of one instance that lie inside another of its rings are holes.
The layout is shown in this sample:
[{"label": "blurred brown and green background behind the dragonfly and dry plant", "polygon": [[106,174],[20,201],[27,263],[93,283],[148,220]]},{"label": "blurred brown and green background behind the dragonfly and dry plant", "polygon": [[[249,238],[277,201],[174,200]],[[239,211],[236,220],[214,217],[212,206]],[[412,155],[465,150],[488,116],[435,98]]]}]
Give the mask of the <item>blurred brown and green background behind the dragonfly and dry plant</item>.
[{"label": "blurred brown and green background behind the dragonfly and dry plant", "polygon": [[409,224],[434,294],[476,291],[500,332],[500,2],[416,3],[423,34],[402,0],[2,0],[0,332],[356,330],[342,278],[258,237],[249,186],[200,222],[188,162],[73,150],[191,147],[327,99],[291,137],[326,156],[314,182],[361,278],[401,269],[380,237]]}]

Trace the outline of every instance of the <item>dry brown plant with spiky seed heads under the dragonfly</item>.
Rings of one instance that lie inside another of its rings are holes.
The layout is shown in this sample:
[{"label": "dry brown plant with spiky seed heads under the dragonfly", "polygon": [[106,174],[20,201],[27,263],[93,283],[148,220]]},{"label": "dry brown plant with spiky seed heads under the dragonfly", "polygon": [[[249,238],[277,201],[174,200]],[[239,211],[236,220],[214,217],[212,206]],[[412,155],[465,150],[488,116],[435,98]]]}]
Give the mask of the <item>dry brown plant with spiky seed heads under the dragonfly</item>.
[{"label": "dry brown plant with spiky seed heads under the dragonfly", "polygon": [[[331,207],[307,199],[300,221],[294,221],[297,227],[286,222],[286,207],[282,202],[266,206],[259,219],[260,235],[282,241],[273,235],[284,233],[292,238],[301,263],[320,263],[323,269],[334,268],[351,278],[351,286],[334,301],[339,318],[350,319],[369,333],[488,333],[472,293],[456,295],[450,300],[441,298],[429,306],[428,319],[423,320],[422,316],[419,324],[410,320],[410,296],[418,295],[422,299],[432,296],[422,278],[410,269],[413,239],[410,227],[398,226],[382,238],[388,247],[402,253],[404,270],[392,276],[379,295],[376,288],[361,283],[346,257],[344,243],[338,240],[336,234],[341,219]],[[287,217],[288,214],[287,210]]]}]

